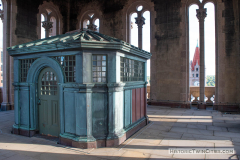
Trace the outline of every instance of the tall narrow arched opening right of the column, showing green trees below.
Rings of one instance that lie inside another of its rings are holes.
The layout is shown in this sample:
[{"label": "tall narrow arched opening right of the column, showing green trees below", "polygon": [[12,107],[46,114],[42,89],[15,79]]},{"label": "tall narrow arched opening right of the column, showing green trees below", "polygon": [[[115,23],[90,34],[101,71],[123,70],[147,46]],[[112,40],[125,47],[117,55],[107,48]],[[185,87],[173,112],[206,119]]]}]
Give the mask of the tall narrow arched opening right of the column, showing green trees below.
[{"label": "tall narrow arched opening right of the column, showing green trees below", "polygon": [[206,3],[207,17],[204,23],[205,40],[205,82],[207,87],[215,86],[215,7],[213,3]]}]

